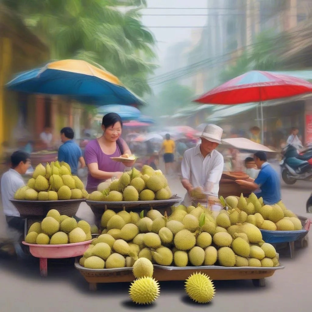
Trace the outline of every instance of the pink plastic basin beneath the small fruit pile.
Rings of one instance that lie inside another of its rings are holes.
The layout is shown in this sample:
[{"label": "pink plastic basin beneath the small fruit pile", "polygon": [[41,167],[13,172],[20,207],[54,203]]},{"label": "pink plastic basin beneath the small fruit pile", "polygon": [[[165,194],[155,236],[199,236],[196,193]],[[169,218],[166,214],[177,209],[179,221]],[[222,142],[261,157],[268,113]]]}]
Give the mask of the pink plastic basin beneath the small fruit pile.
[{"label": "pink plastic basin beneath the small fruit pile", "polygon": [[37,245],[28,244],[25,241],[23,241],[22,243],[29,246],[29,251],[34,257],[47,259],[63,259],[82,256],[89,248],[91,241],[64,245]]}]

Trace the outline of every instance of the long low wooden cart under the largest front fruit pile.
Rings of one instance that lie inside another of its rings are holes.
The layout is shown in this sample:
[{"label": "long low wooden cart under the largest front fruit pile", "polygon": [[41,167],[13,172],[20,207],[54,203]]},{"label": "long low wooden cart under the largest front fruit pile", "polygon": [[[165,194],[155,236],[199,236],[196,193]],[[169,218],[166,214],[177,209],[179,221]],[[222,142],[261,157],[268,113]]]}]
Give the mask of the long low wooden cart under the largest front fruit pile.
[{"label": "long low wooden cart under the largest front fruit pile", "polygon": [[[94,270],[80,266],[75,267],[89,283],[90,290],[96,290],[98,283],[132,282],[135,278],[132,268]],[[255,286],[265,286],[265,278],[272,276],[276,270],[285,266],[274,268],[264,267],[224,267],[224,266],[159,266],[154,265],[153,277],[158,281],[186,280],[194,272],[207,274],[212,280],[252,280]]]}]

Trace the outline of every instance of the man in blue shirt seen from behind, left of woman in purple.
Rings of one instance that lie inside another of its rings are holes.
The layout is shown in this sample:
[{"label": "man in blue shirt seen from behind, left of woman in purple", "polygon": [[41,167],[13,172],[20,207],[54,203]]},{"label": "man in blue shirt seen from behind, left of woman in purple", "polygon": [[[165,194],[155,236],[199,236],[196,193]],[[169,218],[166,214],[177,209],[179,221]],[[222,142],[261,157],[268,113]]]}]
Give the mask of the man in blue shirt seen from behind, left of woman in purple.
[{"label": "man in blue shirt seen from behind, left of woman in purple", "polygon": [[71,174],[77,175],[78,163],[80,168],[85,167],[85,160],[82,157],[80,147],[73,141],[74,130],[71,127],[61,129],[62,145],[58,150],[58,161],[64,161],[71,167]]}]

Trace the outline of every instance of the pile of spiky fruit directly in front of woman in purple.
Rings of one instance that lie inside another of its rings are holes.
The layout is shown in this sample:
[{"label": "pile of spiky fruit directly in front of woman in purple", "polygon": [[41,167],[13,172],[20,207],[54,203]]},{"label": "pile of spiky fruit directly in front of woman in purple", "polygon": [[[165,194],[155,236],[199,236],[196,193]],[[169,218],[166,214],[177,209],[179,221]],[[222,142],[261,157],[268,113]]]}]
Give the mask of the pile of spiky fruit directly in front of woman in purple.
[{"label": "pile of spiky fruit directly in front of woman in purple", "polygon": [[[104,186],[102,189],[102,185]],[[103,182],[88,200],[96,202],[135,202],[167,200],[172,197],[168,181],[161,170],[144,165],[140,172],[136,168],[124,172],[110,184]]]}]

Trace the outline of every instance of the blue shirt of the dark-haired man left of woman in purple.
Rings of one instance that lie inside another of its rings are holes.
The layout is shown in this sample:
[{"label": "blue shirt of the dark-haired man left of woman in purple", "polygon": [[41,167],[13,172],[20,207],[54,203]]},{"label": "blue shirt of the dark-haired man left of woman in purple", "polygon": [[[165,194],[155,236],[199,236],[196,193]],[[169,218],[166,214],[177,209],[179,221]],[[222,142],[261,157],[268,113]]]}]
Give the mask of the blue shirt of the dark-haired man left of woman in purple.
[{"label": "blue shirt of the dark-haired man left of woman in purple", "polygon": [[77,174],[80,157],[82,157],[81,149],[73,140],[66,141],[58,150],[58,161],[68,163],[74,175]]}]

